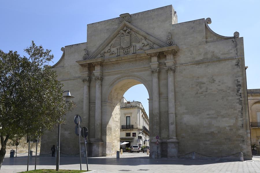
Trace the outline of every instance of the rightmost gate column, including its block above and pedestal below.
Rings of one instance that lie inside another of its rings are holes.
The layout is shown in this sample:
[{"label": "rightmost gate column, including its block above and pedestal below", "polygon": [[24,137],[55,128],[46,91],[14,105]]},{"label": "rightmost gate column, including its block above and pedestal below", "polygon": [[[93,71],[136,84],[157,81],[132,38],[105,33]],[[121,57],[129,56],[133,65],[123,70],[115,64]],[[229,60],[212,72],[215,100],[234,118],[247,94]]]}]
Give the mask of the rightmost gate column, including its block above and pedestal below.
[{"label": "rightmost gate column, including its block above and pedestal below", "polygon": [[176,138],[176,121],[175,121],[175,96],[174,96],[174,73],[175,61],[174,51],[164,52],[166,55],[166,71],[168,73],[168,121],[169,121],[169,138],[167,140],[168,157],[178,155],[178,140]]}]

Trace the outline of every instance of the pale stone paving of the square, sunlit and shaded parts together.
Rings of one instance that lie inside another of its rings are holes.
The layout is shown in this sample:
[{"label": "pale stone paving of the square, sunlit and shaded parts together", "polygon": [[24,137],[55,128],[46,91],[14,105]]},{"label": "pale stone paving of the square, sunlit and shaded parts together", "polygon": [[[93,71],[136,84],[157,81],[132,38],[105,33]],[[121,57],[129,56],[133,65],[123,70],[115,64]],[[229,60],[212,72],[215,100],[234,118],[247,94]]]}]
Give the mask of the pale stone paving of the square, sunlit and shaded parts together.
[{"label": "pale stone paving of the square, sunlit and shaded parts together", "polygon": [[[26,171],[27,155],[17,155],[10,158],[5,156],[1,167],[1,173],[16,173]],[[260,157],[253,157],[250,161],[227,160],[199,160],[199,159],[150,159],[146,153],[123,153],[120,159],[116,156],[88,158],[90,170],[98,170],[99,173],[260,173]],[[34,169],[35,157],[29,158],[29,170]],[[55,169],[56,157],[37,157],[37,169]],[[79,157],[60,157],[60,169],[80,169]],[[82,169],[86,170],[86,159],[82,157]]]}]

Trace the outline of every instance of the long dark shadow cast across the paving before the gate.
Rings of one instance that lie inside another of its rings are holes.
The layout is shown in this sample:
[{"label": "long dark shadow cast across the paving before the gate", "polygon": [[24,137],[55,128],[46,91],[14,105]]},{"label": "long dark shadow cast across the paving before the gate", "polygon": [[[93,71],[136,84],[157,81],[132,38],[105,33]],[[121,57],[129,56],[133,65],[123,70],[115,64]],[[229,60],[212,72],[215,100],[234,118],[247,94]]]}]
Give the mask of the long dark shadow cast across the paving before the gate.
[{"label": "long dark shadow cast across the paving before the gate", "polygon": [[[81,157],[82,164],[86,164],[86,159]],[[88,164],[97,165],[128,165],[128,166],[138,166],[138,165],[207,165],[207,164],[217,164],[223,162],[234,162],[238,160],[199,160],[199,159],[150,159],[147,157],[134,157],[134,158],[99,158],[91,157],[88,158]],[[29,158],[29,165],[35,164],[35,157]],[[79,157],[60,157],[60,165],[71,165],[79,164]],[[3,165],[27,165],[27,156],[20,157],[5,157]],[[56,165],[56,157],[50,156],[38,156],[37,165]]]}]

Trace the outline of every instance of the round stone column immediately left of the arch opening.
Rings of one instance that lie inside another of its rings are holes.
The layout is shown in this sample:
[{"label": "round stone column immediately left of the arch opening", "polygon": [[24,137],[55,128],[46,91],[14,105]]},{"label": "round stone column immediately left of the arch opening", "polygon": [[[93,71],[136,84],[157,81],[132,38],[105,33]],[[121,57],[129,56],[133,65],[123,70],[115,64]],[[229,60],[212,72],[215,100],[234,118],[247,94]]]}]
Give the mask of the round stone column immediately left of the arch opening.
[{"label": "round stone column immediately left of the arch opening", "polygon": [[101,76],[95,76],[96,81],[96,109],[95,109],[95,142],[101,142]]}]

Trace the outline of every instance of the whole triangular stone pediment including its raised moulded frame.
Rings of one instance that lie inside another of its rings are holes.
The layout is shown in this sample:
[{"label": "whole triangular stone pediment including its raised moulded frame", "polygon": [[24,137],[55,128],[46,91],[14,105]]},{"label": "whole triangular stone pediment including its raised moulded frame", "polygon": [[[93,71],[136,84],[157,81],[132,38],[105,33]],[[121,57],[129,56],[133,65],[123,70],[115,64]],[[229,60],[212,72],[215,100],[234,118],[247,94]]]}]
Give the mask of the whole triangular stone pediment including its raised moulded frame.
[{"label": "whole triangular stone pediment including its raised moulded frame", "polygon": [[168,45],[124,21],[88,59],[142,53],[144,50],[165,46]]}]

